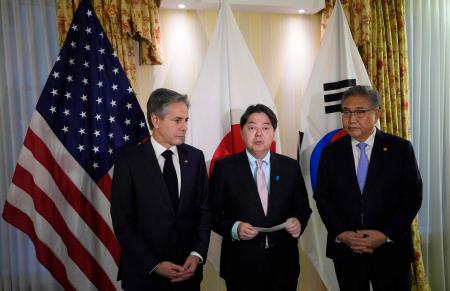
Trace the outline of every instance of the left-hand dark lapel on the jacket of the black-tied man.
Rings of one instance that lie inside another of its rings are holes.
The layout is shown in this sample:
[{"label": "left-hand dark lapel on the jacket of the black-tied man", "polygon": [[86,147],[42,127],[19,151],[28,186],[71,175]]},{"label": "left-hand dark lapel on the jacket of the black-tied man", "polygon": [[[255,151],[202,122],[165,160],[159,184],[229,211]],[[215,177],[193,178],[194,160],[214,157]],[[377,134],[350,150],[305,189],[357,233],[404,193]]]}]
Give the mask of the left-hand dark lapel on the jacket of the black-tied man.
[{"label": "left-hand dark lapel on the jacket of the black-tied man", "polygon": [[[166,200],[166,203],[169,205],[170,209],[174,211],[172,202],[170,201],[169,191],[167,190],[166,181],[164,181],[164,177],[161,172],[161,168],[159,167],[158,160],[156,159],[155,150],[153,149],[152,143],[149,141],[145,145],[145,155],[149,157],[148,161],[144,161],[145,169],[148,173],[149,182],[152,184],[152,190],[155,192],[161,193]],[[151,191],[149,189],[149,191]]]}]

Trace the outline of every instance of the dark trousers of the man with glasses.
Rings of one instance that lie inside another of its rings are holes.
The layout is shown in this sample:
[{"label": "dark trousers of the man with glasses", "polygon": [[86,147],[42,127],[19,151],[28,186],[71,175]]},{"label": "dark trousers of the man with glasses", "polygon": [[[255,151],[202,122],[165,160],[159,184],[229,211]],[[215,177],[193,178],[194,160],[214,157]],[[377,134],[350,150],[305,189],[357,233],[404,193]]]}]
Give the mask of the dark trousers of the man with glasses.
[{"label": "dark trousers of the man with glasses", "polygon": [[333,260],[342,291],[410,291],[411,263],[401,258],[354,254]]}]

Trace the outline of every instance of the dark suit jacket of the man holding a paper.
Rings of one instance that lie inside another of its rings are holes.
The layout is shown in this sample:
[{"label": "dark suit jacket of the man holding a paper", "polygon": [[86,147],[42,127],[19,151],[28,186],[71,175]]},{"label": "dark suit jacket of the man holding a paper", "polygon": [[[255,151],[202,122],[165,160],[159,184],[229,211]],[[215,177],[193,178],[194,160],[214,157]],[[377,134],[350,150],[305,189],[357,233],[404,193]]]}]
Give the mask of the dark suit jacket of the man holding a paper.
[{"label": "dark suit jacket of the man holding a paper", "polygon": [[223,237],[220,274],[225,279],[262,281],[265,254],[270,254],[278,278],[297,280],[300,272],[298,240],[287,231],[268,234],[270,252],[265,252],[265,234],[247,241],[232,241],[236,221],[270,227],[296,217],[305,229],[311,214],[303,177],[297,161],[271,153],[267,216],[245,151],[216,162],[210,177],[213,230]]}]

